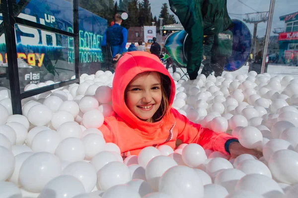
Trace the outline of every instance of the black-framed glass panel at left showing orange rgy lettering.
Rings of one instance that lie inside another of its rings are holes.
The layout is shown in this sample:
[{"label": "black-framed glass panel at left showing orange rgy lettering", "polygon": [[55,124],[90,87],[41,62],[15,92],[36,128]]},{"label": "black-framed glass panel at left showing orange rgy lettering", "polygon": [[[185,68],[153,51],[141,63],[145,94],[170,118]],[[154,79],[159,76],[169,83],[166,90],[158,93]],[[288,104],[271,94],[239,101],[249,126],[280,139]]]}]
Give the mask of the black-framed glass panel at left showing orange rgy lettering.
[{"label": "black-framed glass panel at left showing orange rgy lettering", "polygon": [[21,92],[75,75],[73,38],[21,25],[15,25],[15,33]]}]

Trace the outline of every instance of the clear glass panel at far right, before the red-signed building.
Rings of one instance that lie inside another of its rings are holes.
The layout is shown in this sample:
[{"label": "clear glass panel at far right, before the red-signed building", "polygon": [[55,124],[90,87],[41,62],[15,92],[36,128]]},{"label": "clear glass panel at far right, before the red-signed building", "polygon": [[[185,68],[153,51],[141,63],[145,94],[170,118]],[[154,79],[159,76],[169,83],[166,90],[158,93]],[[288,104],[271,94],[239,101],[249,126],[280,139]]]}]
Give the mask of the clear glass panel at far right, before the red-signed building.
[{"label": "clear glass panel at far right, before the red-signed building", "polygon": [[[272,31],[268,46],[269,59],[267,72],[272,75],[293,75],[298,77],[298,1],[276,0]],[[274,31],[285,27],[286,23],[293,24],[286,32]]]}]

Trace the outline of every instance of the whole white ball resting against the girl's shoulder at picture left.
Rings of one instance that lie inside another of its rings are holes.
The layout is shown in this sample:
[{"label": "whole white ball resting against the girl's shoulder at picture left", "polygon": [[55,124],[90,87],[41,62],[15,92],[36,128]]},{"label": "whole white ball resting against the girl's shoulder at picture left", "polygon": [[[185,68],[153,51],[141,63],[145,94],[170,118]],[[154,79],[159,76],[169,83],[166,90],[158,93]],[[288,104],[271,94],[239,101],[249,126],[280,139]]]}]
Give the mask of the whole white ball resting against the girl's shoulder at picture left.
[{"label": "whole white ball resting against the girl's shoulder at picture left", "polygon": [[99,110],[90,110],[83,115],[82,123],[88,128],[99,128],[104,121],[104,117]]}]

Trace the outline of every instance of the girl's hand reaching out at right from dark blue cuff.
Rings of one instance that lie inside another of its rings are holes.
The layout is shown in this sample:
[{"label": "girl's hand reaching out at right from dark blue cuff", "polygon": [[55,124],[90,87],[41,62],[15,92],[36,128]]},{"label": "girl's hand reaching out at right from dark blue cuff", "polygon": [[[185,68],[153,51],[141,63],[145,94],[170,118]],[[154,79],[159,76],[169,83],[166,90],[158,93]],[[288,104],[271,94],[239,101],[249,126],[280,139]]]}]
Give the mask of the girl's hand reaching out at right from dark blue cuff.
[{"label": "girl's hand reaching out at right from dark blue cuff", "polygon": [[245,148],[242,145],[240,145],[240,143],[238,142],[230,143],[230,145],[228,146],[228,150],[230,151],[232,158],[236,158],[240,154],[251,154],[257,157],[258,159],[263,156],[262,152],[255,149]]}]

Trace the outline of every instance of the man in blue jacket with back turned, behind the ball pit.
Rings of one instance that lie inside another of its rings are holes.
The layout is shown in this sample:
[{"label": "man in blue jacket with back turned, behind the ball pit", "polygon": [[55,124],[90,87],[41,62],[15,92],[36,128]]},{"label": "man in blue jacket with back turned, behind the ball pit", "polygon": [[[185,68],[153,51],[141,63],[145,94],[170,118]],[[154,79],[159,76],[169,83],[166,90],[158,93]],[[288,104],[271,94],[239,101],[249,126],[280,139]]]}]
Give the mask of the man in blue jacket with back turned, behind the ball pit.
[{"label": "man in blue jacket with back turned, behind the ball pit", "polygon": [[109,43],[113,57],[118,53],[122,54],[127,51],[125,47],[128,34],[127,29],[121,26],[122,17],[120,14],[115,14],[114,22],[114,25],[106,30],[101,44],[101,46],[106,46],[107,42]]}]

